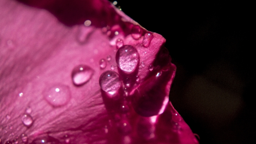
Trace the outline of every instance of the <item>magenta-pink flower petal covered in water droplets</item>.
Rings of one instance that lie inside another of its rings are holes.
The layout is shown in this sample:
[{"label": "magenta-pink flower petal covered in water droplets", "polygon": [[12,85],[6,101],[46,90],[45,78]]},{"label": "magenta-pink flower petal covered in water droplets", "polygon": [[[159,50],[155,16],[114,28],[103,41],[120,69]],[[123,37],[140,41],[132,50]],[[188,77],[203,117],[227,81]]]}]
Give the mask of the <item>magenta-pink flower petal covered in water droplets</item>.
[{"label": "magenta-pink flower petal covered in water droplets", "polygon": [[0,143],[198,143],[161,35],[105,0],[22,2],[0,1]]}]

